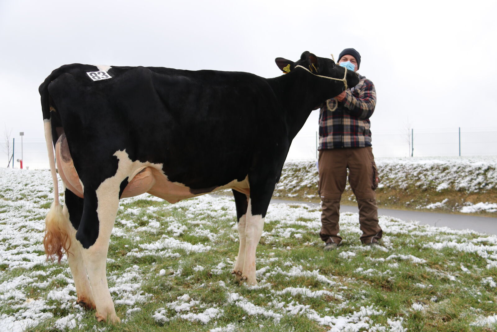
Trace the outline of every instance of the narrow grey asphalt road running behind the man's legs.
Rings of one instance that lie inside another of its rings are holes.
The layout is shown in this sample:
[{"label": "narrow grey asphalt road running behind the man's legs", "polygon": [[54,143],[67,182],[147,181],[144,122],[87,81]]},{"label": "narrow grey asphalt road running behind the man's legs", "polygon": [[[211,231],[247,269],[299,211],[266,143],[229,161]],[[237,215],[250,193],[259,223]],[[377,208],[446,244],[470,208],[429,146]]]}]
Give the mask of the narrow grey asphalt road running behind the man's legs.
[{"label": "narrow grey asphalt road running behind the man's legs", "polygon": [[[301,203],[310,206],[319,207],[319,203],[271,200],[271,203]],[[340,206],[340,212],[358,213],[357,206]],[[472,215],[452,215],[434,212],[405,211],[392,209],[378,209],[378,216],[390,216],[403,221],[419,221],[420,224],[443,227],[447,226],[453,229],[473,229],[481,233],[497,234],[497,218],[478,217]]]}]

